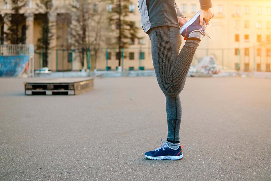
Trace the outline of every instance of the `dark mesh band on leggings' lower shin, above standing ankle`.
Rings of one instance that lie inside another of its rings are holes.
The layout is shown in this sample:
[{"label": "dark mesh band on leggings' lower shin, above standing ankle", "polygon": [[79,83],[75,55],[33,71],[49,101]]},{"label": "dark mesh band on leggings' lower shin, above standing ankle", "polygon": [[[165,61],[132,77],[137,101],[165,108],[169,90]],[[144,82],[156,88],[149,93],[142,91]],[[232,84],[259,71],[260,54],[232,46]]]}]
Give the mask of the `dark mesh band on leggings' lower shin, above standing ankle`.
[{"label": "dark mesh band on leggings' lower shin, above standing ankle", "polygon": [[167,139],[171,141],[179,141],[181,119],[167,120]]}]

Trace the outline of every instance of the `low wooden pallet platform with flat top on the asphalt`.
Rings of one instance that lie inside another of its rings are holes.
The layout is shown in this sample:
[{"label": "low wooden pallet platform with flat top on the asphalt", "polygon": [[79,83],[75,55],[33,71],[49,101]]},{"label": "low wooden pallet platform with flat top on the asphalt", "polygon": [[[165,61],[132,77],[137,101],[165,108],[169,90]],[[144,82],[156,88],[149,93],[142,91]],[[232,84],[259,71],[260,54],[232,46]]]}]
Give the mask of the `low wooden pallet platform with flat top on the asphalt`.
[{"label": "low wooden pallet platform with flat top on the asphalt", "polygon": [[76,95],[94,87],[91,78],[60,78],[24,82],[25,95]]}]

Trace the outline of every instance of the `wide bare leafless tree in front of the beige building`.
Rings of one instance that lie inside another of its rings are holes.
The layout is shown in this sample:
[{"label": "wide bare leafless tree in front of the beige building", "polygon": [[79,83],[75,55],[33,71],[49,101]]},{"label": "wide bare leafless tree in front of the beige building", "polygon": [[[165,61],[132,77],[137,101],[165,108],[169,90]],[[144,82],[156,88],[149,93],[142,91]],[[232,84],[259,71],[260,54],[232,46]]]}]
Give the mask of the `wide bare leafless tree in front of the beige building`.
[{"label": "wide bare leafless tree in front of the beige building", "polygon": [[80,63],[84,67],[86,53],[94,51],[95,65],[97,54],[102,41],[103,17],[105,12],[102,5],[96,0],[74,0],[70,5],[72,21],[69,34],[72,46],[78,48]]}]

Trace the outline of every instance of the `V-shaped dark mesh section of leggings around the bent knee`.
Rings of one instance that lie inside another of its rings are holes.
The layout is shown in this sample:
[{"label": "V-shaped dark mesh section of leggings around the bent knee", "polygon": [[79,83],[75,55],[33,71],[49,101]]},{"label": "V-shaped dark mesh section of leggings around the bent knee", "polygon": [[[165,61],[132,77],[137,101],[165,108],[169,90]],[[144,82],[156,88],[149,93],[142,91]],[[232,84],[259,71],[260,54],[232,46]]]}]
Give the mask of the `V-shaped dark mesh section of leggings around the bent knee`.
[{"label": "V-shaped dark mesh section of leggings around the bent knee", "polygon": [[165,91],[177,93],[183,89],[196,48],[184,46],[173,65],[170,42],[171,27],[156,27],[157,53],[160,80]]}]

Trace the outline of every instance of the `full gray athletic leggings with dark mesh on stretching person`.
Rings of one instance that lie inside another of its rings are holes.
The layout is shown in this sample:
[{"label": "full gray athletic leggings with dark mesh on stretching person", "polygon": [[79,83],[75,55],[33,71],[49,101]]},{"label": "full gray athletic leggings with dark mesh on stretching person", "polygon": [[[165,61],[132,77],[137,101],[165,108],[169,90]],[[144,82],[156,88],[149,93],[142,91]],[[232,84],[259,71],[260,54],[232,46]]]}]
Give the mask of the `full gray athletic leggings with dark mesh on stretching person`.
[{"label": "full gray athletic leggings with dark mesh on stretching person", "polygon": [[179,143],[182,108],[179,94],[193,60],[198,40],[186,40],[181,49],[179,28],[162,26],[148,31],[151,55],[159,87],[166,97],[167,141]]}]

